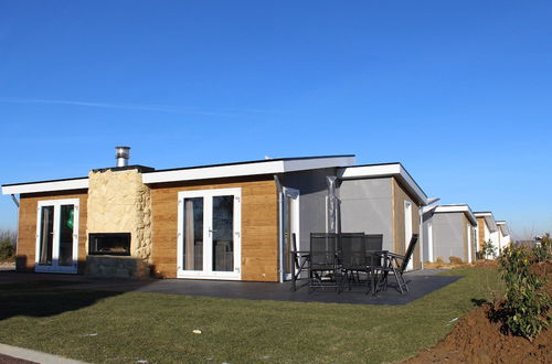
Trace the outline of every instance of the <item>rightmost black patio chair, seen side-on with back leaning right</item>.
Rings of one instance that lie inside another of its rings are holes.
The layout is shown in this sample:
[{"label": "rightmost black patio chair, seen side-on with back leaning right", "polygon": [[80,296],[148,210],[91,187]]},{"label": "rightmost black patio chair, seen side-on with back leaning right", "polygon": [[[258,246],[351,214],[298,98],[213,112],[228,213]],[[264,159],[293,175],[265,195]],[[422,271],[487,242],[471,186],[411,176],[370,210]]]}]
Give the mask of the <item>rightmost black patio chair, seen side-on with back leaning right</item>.
[{"label": "rightmost black patio chair, seen side-on with back leaning right", "polygon": [[393,272],[401,295],[403,295],[405,291],[408,291],[408,286],[406,285],[406,280],[404,279],[403,274],[406,270],[412,256],[414,255],[414,249],[416,247],[417,240],[418,234],[412,234],[408,248],[406,249],[406,253],[404,255],[391,251],[382,251],[381,254],[379,254],[382,260],[382,265],[375,268],[381,272],[381,276],[376,283],[376,290],[379,287],[382,287],[383,290],[388,288],[388,276],[390,272]]}]

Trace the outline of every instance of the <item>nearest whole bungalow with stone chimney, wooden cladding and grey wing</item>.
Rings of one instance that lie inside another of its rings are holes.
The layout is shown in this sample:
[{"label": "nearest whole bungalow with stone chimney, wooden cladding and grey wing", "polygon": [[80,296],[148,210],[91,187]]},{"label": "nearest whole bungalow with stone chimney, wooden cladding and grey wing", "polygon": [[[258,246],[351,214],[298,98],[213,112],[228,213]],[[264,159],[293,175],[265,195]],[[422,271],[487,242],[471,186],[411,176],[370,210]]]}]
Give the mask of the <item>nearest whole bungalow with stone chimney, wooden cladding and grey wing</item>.
[{"label": "nearest whole bungalow with stone chimney, wooden cladding and grey wing", "polygon": [[[282,158],[7,184],[19,194],[20,271],[282,281],[291,236],[383,234],[404,253],[426,196],[400,163],[353,167],[354,156]],[[341,201],[341,202],[340,202]],[[418,245],[413,268],[422,267]]]}]

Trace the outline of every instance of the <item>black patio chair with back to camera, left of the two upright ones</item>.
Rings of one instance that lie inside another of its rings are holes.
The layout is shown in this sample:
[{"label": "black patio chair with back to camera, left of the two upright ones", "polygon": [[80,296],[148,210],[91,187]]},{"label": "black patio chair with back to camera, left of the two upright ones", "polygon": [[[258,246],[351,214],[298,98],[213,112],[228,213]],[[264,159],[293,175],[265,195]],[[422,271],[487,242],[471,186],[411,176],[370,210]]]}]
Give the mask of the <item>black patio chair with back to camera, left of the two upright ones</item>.
[{"label": "black patio chair with back to camera, left of the two upright ones", "polygon": [[308,263],[309,292],[315,288],[336,288],[339,285],[339,235],[332,233],[310,233]]}]

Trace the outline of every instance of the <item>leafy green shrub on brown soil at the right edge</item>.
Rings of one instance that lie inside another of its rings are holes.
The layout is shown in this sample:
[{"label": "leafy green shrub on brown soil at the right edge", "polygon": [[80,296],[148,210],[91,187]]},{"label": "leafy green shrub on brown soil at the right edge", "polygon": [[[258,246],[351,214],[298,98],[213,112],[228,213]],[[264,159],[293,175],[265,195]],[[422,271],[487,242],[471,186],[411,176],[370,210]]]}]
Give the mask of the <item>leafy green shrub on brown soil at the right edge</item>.
[{"label": "leafy green shrub on brown soil at the right edge", "polygon": [[541,291],[545,278],[530,271],[531,253],[524,247],[508,247],[500,256],[506,296],[501,317],[505,329],[532,340],[550,321],[550,297]]}]

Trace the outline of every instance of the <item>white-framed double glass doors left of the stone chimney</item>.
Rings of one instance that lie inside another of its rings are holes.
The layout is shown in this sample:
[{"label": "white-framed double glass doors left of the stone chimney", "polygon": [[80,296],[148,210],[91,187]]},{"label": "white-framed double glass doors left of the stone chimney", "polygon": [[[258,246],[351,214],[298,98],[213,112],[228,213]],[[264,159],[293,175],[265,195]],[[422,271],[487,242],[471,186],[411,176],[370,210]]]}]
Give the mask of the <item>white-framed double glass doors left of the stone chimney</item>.
[{"label": "white-framed double glass doors left of the stone chimney", "polygon": [[40,201],[34,270],[76,274],[77,265],[78,199]]}]

